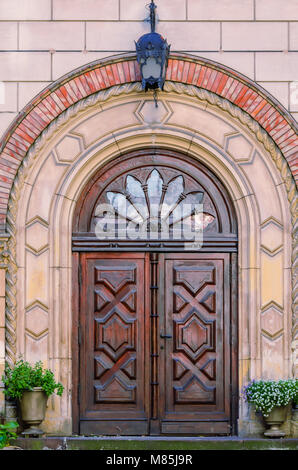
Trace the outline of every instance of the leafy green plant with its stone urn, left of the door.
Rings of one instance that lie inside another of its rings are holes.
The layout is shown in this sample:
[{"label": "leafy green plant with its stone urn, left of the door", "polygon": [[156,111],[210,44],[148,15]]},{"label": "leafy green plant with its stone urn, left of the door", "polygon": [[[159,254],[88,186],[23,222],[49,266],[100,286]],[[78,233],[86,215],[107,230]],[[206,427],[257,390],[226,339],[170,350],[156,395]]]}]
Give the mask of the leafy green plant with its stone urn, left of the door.
[{"label": "leafy green plant with its stone urn, left of the door", "polygon": [[22,434],[43,434],[37,426],[44,420],[48,397],[55,392],[61,396],[63,385],[55,381],[51,370],[43,368],[41,361],[30,365],[23,359],[13,367],[6,365],[2,380],[5,395],[19,402],[25,425]]}]

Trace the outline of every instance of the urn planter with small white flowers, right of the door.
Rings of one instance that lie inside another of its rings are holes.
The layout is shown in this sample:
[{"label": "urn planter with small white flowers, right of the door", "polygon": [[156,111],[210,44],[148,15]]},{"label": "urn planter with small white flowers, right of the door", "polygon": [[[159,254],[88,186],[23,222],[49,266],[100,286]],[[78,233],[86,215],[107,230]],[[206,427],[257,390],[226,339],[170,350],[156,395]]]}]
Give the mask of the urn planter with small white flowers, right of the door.
[{"label": "urn planter with small white flowers, right of the door", "polygon": [[286,420],[289,403],[298,400],[298,379],[253,380],[244,387],[244,399],[262,413],[269,425],[266,437],[284,437],[280,426]]}]

